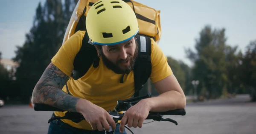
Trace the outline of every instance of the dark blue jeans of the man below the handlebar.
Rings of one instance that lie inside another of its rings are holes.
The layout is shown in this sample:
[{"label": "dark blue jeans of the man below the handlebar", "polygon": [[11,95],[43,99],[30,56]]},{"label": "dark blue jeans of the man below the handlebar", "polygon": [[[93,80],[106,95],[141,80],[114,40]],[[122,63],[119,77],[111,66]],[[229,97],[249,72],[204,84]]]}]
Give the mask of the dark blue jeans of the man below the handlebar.
[{"label": "dark blue jeans of the man below the handlebar", "polygon": [[[98,130],[83,130],[74,128],[61,120],[53,120],[50,122],[48,134],[105,134],[105,131]],[[121,134],[119,132],[119,124],[116,124],[115,134]],[[125,131],[122,134],[127,134]]]}]

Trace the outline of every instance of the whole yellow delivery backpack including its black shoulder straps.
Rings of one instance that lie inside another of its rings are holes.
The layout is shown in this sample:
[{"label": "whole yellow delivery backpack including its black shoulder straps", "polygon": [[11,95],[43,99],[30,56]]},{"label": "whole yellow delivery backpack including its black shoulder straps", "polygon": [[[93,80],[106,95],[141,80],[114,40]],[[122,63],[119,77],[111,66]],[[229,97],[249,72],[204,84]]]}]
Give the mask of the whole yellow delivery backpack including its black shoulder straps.
[{"label": "whole yellow delivery backpack including its black shoulder straps", "polygon": [[[85,19],[90,7],[100,0],[79,0],[73,14],[71,16],[69,25],[67,26],[66,33],[64,35],[63,43],[67,41],[77,31],[86,31]],[[115,1],[115,0],[111,0]],[[138,23],[139,33],[137,35],[138,58],[134,66],[134,96],[139,96],[139,91],[143,88],[143,85],[148,81],[151,74],[151,39],[155,42],[160,41],[161,26],[160,26],[160,11],[154,8],[145,6],[134,0],[122,0],[134,10]],[[143,47],[143,48],[142,48]],[[87,32],[85,32],[82,40],[82,45],[79,52],[73,62],[74,69],[71,77],[74,80],[78,80],[89,70],[92,66],[99,66],[99,57],[97,51],[90,42]],[[123,82],[123,78],[120,78],[120,83]],[[69,91],[68,91],[69,92]]]}]

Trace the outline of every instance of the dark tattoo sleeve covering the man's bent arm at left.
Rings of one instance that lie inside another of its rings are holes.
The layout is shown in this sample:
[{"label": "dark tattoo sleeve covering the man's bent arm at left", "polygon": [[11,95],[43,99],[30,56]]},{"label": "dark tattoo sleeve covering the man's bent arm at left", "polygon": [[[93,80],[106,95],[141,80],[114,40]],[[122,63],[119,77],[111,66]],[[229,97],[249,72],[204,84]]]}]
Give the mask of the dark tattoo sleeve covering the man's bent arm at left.
[{"label": "dark tattoo sleeve covering the man's bent arm at left", "polygon": [[76,112],[76,103],[79,98],[61,90],[68,79],[69,76],[50,63],[35,86],[33,101]]}]

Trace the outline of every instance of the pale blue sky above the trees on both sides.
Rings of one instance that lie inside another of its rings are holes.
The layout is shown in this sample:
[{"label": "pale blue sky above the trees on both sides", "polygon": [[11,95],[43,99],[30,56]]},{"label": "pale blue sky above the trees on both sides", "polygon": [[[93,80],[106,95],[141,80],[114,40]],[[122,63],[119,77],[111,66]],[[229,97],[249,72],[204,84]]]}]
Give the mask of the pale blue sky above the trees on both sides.
[{"label": "pale blue sky above the trees on both sides", "polygon": [[[35,9],[45,0],[0,0],[0,51],[15,56],[32,27]],[[166,56],[192,66],[185,48],[195,50],[195,39],[205,25],[225,28],[227,44],[239,50],[256,39],[256,0],[135,0],[160,10],[162,36],[158,44]]]}]

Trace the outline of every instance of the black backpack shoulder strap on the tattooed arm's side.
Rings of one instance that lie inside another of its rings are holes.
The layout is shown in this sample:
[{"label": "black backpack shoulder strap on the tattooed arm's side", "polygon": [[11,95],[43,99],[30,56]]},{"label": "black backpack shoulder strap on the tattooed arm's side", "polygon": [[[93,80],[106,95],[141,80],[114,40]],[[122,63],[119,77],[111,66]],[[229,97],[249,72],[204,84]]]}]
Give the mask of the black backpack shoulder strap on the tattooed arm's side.
[{"label": "black backpack shoulder strap on the tattooed arm's side", "polygon": [[79,52],[76,54],[73,62],[74,69],[71,75],[73,79],[77,80],[85,75],[92,64],[93,67],[98,67],[99,57],[97,55],[96,48],[92,45],[87,32],[85,32],[82,40],[82,46]]}]

